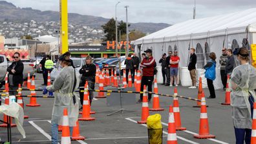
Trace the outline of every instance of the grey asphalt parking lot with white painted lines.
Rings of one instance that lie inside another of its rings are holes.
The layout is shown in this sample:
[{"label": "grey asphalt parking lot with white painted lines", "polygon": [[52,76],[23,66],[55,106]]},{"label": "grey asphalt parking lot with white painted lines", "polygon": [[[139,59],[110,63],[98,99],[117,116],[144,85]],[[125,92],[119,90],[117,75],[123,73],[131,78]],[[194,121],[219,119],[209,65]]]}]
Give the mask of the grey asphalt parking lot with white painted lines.
[{"label": "grey asphalt parking lot with white painted lines", "polygon": [[[43,79],[41,74],[36,76],[36,85],[41,87]],[[96,85],[98,89],[98,85]],[[158,84],[158,92],[162,94],[173,94],[173,87],[165,87]],[[204,89],[206,96],[209,96],[208,88]],[[23,92],[23,94],[27,94]],[[40,92],[37,94],[41,95]],[[187,87],[178,87],[178,95],[197,98],[197,89],[189,89]],[[97,93],[94,93],[97,96]],[[225,92],[216,90],[216,99],[206,99],[208,107],[209,130],[211,134],[216,135],[215,139],[195,139],[193,134],[198,133],[200,108],[194,108],[195,101],[179,98],[180,114],[182,126],[186,127],[185,131],[177,131],[178,143],[235,143],[235,134],[233,130],[233,122],[231,119],[231,107],[220,105],[224,102]],[[136,96],[138,99],[138,96]],[[29,103],[29,98],[24,98],[25,104]],[[50,143],[50,119],[52,114],[52,98],[37,98],[37,103],[41,107],[25,107],[25,114],[29,116],[25,119],[23,127],[27,138],[23,139],[17,128],[12,128],[13,143]],[[150,112],[150,114],[161,114],[162,125],[164,129],[163,143],[167,139],[167,123],[168,123],[168,107],[173,103],[173,98],[160,96],[160,105],[165,108],[162,112]],[[133,105],[125,105],[127,110],[132,112],[124,112],[107,116],[107,114],[118,110],[120,107],[108,107],[106,99],[94,99],[92,102],[92,110],[96,114],[91,115],[96,118],[95,121],[80,121],[80,134],[85,136],[83,141],[72,141],[72,143],[148,143],[146,125],[136,123],[140,119],[142,104],[134,103]],[[149,108],[152,103],[149,104]],[[2,119],[3,116],[0,116]],[[0,128],[0,137],[6,140],[6,129]],[[59,133],[59,139],[61,138]]]}]

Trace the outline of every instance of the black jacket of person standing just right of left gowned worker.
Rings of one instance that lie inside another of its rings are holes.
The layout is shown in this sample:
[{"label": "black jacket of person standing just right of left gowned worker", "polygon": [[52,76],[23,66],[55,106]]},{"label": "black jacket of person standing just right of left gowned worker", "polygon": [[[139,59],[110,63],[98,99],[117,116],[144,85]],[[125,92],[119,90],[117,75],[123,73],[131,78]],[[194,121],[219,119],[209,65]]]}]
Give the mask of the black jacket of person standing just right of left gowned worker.
[{"label": "black jacket of person standing just right of left gowned worker", "polygon": [[84,84],[85,81],[91,81],[92,83],[95,83],[96,66],[94,64],[83,65],[83,67],[79,70],[79,73],[82,75],[81,83]]}]

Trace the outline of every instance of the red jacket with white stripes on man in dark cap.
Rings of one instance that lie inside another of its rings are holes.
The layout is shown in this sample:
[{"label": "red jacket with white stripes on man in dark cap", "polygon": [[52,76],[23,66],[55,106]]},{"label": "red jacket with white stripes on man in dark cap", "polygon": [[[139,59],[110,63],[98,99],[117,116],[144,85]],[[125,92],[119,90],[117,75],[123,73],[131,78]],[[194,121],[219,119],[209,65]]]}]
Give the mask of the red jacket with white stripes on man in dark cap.
[{"label": "red jacket with white stripes on man in dark cap", "polygon": [[156,61],[154,57],[144,58],[142,63],[140,63],[140,67],[142,67],[142,75],[143,76],[154,76],[154,67],[156,65]]}]

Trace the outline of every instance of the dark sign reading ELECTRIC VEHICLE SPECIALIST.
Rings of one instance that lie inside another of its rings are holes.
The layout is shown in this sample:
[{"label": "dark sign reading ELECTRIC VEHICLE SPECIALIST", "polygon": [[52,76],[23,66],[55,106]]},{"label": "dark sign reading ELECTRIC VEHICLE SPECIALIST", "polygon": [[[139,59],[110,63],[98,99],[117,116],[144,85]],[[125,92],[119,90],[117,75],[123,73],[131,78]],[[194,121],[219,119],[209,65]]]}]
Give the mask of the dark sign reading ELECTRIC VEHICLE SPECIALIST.
[{"label": "dark sign reading ELECTRIC VEHICLE SPECIALIST", "polygon": [[106,46],[69,46],[69,52],[106,52]]}]

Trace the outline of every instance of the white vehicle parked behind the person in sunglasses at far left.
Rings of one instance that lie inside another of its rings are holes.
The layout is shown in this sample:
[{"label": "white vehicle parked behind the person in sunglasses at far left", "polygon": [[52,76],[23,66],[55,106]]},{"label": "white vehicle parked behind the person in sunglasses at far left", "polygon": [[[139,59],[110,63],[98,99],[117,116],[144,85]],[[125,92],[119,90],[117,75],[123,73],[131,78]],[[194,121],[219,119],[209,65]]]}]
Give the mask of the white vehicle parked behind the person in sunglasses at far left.
[{"label": "white vehicle parked behind the person in sunglasses at far left", "polygon": [[[30,72],[30,77],[36,76],[34,73],[34,64],[30,61],[30,59],[21,59],[24,65],[23,70],[23,79],[24,81],[28,78],[28,72]],[[0,54],[0,88],[5,85],[5,73],[6,69],[9,65],[11,65],[12,61],[7,61],[5,55]]]}]

